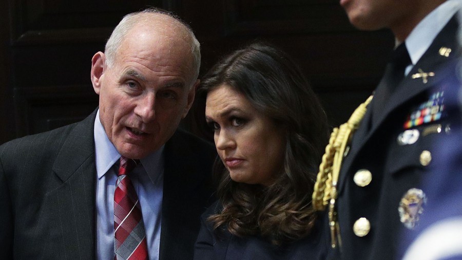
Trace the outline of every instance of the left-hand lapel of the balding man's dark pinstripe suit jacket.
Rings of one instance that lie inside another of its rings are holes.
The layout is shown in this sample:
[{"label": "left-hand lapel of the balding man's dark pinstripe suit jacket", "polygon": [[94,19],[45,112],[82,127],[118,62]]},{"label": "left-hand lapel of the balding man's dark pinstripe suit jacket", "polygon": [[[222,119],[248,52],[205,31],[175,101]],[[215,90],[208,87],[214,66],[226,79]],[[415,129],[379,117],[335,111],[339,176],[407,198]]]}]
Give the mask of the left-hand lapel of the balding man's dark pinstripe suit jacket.
[{"label": "left-hand lapel of the balding man's dark pinstripe suit jacket", "polygon": [[96,111],[69,133],[53,164],[63,185],[53,191],[59,207],[67,256],[95,256],[95,178],[93,127]]}]

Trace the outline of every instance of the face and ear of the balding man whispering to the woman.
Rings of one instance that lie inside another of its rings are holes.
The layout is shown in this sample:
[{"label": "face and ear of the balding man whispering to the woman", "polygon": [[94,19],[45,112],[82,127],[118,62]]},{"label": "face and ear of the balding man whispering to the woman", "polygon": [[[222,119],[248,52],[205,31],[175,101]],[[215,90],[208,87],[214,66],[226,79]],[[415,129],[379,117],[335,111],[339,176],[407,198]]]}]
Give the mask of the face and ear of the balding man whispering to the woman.
[{"label": "face and ear of the balding man whispering to the woman", "polygon": [[176,131],[194,100],[196,79],[190,44],[175,29],[136,26],[107,67],[93,57],[93,88],[100,120],[119,153],[139,159],[160,148]]}]

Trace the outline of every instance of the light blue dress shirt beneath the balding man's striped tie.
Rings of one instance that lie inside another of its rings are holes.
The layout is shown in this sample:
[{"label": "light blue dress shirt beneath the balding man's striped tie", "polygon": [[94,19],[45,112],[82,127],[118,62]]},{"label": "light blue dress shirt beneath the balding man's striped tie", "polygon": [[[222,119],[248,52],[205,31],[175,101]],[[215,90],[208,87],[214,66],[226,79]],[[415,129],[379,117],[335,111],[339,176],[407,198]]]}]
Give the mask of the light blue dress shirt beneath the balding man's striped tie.
[{"label": "light blue dress shirt beneath the balding man's striped tie", "polygon": [[[96,253],[98,259],[114,259],[114,191],[118,171],[114,163],[121,155],[104,132],[99,110],[94,121],[94,144],[97,168]],[[159,259],[164,183],[163,151],[164,146],[141,159],[141,165],[137,165],[130,173],[130,180],[140,199],[151,260]]]}]

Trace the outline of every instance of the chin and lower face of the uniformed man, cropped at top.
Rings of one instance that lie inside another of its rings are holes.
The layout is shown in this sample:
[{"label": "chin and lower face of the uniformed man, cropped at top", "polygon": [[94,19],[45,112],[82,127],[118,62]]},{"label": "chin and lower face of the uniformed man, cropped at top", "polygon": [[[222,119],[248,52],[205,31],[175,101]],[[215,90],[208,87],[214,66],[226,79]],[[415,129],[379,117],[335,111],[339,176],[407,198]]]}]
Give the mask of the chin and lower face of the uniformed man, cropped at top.
[{"label": "chin and lower face of the uniformed man, cropped at top", "polygon": [[[340,0],[350,22],[362,30],[394,29],[412,16],[415,0]],[[415,9],[417,10],[417,9]]]}]

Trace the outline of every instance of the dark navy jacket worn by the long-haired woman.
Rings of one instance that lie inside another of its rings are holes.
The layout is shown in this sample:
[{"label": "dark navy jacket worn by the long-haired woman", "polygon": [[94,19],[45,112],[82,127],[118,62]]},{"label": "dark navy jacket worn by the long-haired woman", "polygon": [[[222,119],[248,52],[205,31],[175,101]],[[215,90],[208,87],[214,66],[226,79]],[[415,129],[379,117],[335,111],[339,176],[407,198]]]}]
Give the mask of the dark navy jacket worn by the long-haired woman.
[{"label": "dark navy jacket worn by the long-haired woman", "polygon": [[301,260],[316,259],[323,253],[323,248],[319,247],[322,239],[317,227],[309,236],[285,246],[274,246],[260,236],[238,237],[224,230],[217,235],[206,219],[221,209],[217,202],[202,215],[194,250],[195,260]]}]

